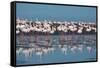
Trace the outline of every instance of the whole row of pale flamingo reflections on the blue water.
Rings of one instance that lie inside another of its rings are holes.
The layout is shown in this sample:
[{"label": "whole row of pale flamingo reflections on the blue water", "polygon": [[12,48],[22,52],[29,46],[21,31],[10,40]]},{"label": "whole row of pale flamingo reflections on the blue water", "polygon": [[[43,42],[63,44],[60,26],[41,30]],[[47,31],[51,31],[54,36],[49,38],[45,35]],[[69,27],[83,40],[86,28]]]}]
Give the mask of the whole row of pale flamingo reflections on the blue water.
[{"label": "whole row of pale flamingo reflections on the blue water", "polygon": [[[37,48],[18,48],[16,50],[16,54],[17,55],[24,55],[26,58],[32,56],[32,55],[36,55],[39,56],[40,58],[43,57],[43,55],[48,55],[48,54],[55,54],[55,50],[57,48],[44,48],[44,47],[37,47]],[[62,54],[67,55],[68,53],[68,49],[70,51],[70,53],[76,54],[76,53],[81,53],[83,52],[83,49],[86,49],[88,51],[89,54],[91,54],[91,52],[93,51],[93,48],[91,46],[71,46],[71,47],[62,47],[60,48]]]}]

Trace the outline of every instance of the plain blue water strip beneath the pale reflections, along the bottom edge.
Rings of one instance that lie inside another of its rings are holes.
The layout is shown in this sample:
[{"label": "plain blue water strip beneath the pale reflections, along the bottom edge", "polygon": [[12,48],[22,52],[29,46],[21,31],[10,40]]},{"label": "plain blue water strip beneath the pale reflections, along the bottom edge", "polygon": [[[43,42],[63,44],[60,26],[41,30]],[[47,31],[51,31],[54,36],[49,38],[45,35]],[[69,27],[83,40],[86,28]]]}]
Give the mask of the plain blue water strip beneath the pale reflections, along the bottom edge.
[{"label": "plain blue water strip beneath the pale reflections, along the bottom edge", "polygon": [[17,65],[27,64],[45,64],[45,63],[63,63],[63,62],[80,62],[80,61],[94,61],[96,60],[96,51],[91,54],[84,50],[83,53],[70,53],[64,55],[58,49],[54,54],[43,55],[40,59],[39,56],[32,55],[29,58],[25,58],[23,55],[17,56]]}]

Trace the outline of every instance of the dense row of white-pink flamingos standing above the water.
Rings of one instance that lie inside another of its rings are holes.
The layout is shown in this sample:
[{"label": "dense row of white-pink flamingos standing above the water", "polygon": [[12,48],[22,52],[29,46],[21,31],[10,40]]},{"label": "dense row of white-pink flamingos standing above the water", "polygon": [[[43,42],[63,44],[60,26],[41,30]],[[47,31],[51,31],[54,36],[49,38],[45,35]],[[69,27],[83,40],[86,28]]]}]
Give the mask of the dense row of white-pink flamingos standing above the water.
[{"label": "dense row of white-pink flamingos standing above the water", "polygon": [[55,32],[64,32],[67,34],[93,34],[96,33],[95,23],[85,23],[85,22],[60,22],[60,21],[28,21],[28,20],[16,20],[16,34],[30,33],[30,32],[40,32],[54,34]]}]

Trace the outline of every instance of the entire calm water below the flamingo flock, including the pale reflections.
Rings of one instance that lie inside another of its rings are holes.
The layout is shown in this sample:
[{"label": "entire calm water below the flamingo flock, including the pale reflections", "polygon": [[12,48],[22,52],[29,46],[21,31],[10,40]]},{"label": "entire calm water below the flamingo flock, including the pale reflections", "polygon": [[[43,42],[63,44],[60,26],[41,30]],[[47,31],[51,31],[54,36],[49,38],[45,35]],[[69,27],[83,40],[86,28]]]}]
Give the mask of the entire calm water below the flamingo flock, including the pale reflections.
[{"label": "entire calm water below the flamingo flock, including the pale reflections", "polygon": [[96,60],[96,35],[21,34],[16,38],[17,65]]}]

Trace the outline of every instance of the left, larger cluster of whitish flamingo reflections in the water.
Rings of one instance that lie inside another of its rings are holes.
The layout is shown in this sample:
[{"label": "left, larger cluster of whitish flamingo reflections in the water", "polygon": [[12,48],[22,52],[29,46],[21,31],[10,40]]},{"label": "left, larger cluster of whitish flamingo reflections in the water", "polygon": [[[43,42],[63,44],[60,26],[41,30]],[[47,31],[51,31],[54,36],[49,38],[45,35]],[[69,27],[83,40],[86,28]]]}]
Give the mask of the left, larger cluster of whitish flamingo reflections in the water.
[{"label": "left, larger cluster of whitish flamingo reflections in the water", "polygon": [[35,54],[39,56],[40,58],[42,57],[43,54],[48,54],[48,53],[53,53],[54,48],[18,48],[16,50],[17,55],[21,55],[21,53],[27,58],[29,56],[32,56],[32,54]]}]

